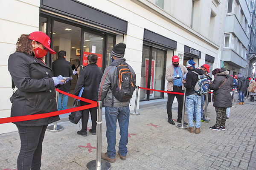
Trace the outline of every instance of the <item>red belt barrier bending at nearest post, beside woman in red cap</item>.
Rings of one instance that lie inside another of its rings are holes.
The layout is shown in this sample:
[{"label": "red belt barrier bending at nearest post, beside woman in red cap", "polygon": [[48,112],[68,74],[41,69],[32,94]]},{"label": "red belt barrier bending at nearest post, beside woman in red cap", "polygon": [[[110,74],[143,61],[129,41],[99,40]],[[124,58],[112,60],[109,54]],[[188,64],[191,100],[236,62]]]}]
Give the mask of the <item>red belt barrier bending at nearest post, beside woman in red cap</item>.
[{"label": "red belt barrier bending at nearest post, beside woman in red cap", "polygon": [[81,111],[81,110],[97,107],[97,102],[95,102],[93,100],[89,100],[89,99],[85,99],[83,97],[75,96],[73,94],[66,93],[66,92],[61,91],[59,89],[56,89],[56,91],[58,91],[61,94],[65,94],[67,96],[70,96],[72,98],[79,99],[81,101],[90,103],[90,105],[84,105],[84,106],[80,106],[80,107],[76,107],[76,108],[70,108],[70,109],[65,109],[65,110],[61,110],[61,111],[49,112],[49,113],[0,118],[0,124],[11,123],[11,122],[20,122],[20,121],[26,121],[26,120],[34,120],[34,119],[42,119],[42,118],[47,118],[47,117],[51,117],[51,116],[57,116],[57,115],[64,114],[64,113],[71,113],[71,112],[74,112],[74,111]]}]

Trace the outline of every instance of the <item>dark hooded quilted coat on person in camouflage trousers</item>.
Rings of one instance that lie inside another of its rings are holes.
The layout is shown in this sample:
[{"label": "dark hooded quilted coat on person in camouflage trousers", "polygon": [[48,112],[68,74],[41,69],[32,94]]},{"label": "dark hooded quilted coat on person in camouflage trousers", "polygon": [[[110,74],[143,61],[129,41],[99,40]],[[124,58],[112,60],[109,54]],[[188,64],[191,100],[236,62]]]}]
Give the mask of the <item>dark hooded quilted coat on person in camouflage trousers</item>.
[{"label": "dark hooded quilted coat on person in camouflage trousers", "polygon": [[[218,88],[227,78],[226,82]],[[209,89],[214,90],[215,99],[213,106],[218,108],[232,107],[230,89],[233,88],[233,78],[229,75],[228,71],[224,71],[215,75],[212,84],[209,84]]]}]

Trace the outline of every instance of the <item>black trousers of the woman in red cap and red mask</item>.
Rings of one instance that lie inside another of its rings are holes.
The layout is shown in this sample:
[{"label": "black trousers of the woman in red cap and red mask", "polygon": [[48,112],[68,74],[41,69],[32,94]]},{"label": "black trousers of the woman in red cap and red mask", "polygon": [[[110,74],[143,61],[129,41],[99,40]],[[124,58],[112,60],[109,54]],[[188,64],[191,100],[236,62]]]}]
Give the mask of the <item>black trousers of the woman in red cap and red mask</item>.
[{"label": "black trousers of the woman in red cap and red mask", "polygon": [[40,170],[42,143],[47,125],[19,126],[20,153],[17,159],[17,170]]}]

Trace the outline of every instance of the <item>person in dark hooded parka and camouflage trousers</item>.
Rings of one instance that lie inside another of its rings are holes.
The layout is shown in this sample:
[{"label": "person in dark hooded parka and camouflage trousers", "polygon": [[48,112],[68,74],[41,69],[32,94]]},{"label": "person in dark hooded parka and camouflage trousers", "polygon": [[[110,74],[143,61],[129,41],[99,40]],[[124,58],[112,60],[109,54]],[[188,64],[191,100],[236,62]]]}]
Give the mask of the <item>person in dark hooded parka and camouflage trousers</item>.
[{"label": "person in dark hooded parka and camouflage trousers", "polygon": [[225,130],[226,109],[232,107],[230,90],[233,88],[233,78],[228,71],[216,68],[212,71],[214,80],[209,84],[209,89],[213,90],[213,106],[216,111],[216,123],[209,127],[212,130]]}]

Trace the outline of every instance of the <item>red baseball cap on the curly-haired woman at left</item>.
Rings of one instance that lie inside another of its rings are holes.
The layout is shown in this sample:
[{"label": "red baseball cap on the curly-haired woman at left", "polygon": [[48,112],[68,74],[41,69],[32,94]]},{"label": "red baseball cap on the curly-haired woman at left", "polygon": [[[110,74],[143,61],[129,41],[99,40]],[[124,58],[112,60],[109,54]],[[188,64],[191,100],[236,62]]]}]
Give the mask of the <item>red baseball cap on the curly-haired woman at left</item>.
[{"label": "red baseball cap on the curly-haired woman at left", "polygon": [[29,39],[40,42],[42,45],[44,45],[45,48],[47,48],[47,51],[49,51],[49,53],[56,54],[56,52],[50,48],[51,40],[47,34],[44,34],[40,31],[35,31],[29,34]]}]

